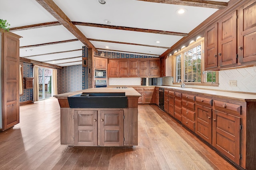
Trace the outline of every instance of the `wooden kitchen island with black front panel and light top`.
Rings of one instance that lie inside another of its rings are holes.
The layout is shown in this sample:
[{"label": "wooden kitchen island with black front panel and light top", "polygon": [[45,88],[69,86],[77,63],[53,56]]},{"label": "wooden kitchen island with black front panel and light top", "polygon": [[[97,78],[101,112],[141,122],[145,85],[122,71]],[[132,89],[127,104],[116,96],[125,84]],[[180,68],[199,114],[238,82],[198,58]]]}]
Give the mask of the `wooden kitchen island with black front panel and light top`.
[{"label": "wooden kitchen island with black front panel and light top", "polygon": [[[122,104],[111,104],[118,101],[116,98],[120,95],[110,94],[120,94]],[[134,88],[90,88],[55,95],[60,104],[60,143],[69,146],[138,145],[140,96]],[[72,100],[80,98],[83,102],[71,104]],[[126,104],[124,98],[127,98]],[[92,107],[83,104],[92,100]],[[108,102],[110,107],[106,106]]]}]

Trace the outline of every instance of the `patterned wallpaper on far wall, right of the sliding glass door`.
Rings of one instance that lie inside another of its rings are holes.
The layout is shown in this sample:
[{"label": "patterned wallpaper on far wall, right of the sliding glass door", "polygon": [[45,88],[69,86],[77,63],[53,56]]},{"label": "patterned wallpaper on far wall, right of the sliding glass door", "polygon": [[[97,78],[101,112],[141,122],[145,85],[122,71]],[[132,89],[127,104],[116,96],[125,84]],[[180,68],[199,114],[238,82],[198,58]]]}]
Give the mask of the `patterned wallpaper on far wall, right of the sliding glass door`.
[{"label": "patterned wallpaper on far wall, right of the sliding glass door", "polygon": [[58,69],[58,94],[82,90],[82,64]]}]

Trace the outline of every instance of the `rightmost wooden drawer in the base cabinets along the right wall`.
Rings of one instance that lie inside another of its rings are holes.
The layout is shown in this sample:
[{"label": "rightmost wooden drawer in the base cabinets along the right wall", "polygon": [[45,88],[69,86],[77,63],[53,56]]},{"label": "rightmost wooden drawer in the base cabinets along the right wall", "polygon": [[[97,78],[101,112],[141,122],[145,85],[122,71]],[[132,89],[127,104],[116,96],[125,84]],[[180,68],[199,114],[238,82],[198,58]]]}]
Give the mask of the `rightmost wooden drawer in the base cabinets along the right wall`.
[{"label": "rightmost wooden drawer in the base cabinets along the right wall", "polygon": [[240,105],[230,104],[226,102],[220,102],[218,100],[214,100],[214,109],[223,111],[224,113],[233,113],[233,114],[241,114]]}]

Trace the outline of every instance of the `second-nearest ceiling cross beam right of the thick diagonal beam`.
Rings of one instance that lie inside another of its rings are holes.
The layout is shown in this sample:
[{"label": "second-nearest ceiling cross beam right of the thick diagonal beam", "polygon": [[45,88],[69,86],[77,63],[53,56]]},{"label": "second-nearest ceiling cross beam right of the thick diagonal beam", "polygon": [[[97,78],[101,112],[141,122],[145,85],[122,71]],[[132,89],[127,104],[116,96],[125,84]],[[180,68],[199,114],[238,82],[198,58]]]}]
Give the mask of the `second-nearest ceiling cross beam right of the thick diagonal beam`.
[{"label": "second-nearest ceiling cross beam right of the thick diagonal beam", "polygon": [[178,32],[172,32],[172,31],[160,31],[160,30],[154,30],[154,29],[121,27],[121,26],[104,25],[104,24],[98,24],[98,23],[86,23],[86,22],[76,22],[76,21],[72,21],[72,23],[74,25],[82,25],[82,26],[88,26],[88,27],[100,27],[100,28],[109,28],[109,29],[119,29],[119,30],[125,30],[125,31],[137,31],[137,32],[144,32],[144,33],[176,35],[176,36],[182,36],[182,37],[186,37],[188,35],[187,33],[178,33]]}]

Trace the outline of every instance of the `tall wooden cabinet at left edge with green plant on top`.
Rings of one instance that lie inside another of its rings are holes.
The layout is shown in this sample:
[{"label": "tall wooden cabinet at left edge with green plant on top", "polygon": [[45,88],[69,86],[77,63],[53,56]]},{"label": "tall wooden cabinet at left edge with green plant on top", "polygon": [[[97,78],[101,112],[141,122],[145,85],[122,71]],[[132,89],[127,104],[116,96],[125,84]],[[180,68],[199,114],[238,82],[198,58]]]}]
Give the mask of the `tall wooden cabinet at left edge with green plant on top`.
[{"label": "tall wooden cabinet at left edge with green plant on top", "polygon": [[19,35],[0,29],[1,60],[1,112],[0,130],[4,131],[20,122],[19,74],[20,39]]}]

